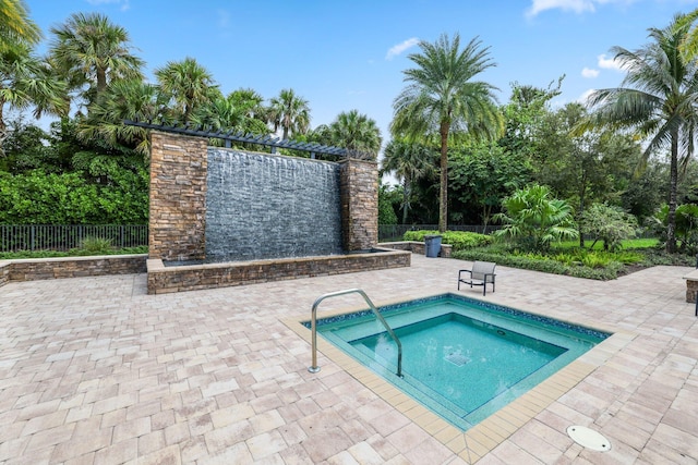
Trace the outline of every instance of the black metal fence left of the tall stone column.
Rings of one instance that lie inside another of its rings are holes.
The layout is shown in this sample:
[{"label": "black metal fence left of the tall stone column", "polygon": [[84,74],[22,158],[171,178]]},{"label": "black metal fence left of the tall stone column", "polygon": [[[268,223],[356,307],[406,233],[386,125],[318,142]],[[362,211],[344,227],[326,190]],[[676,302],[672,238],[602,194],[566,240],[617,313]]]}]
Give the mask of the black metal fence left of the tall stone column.
[{"label": "black metal fence left of the tall stone column", "polygon": [[148,245],[147,224],[0,224],[0,252],[68,250],[85,238],[117,248]]}]

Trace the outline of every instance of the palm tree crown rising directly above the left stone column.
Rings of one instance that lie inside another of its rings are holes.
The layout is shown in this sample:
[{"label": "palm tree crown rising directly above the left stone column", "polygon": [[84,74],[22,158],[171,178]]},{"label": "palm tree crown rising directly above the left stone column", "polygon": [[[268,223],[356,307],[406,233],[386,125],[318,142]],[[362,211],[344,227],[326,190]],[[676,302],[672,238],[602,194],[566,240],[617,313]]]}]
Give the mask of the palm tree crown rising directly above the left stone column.
[{"label": "palm tree crown rising directly above the left stone column", "polygon": [[171,96],[183,123],[190,122],[197,107],[220,96],[213,75],[190,57],[168,62],[155,70],[155,76],[163,91]]}]

